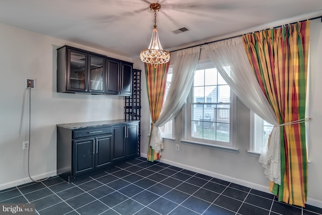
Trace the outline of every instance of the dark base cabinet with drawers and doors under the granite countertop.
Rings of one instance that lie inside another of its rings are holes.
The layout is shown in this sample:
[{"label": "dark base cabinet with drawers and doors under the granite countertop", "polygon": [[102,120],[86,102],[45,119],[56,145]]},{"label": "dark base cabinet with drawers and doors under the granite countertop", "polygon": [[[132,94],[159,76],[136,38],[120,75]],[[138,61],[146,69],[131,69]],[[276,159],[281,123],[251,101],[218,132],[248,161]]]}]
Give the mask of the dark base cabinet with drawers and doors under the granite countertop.
[{"label": "dark base cabinet with drawers and doors under the granite countertop", "polygon": [[57,125],[57,175],[68,182],[138,156],[138,121],[81,129]]}]

